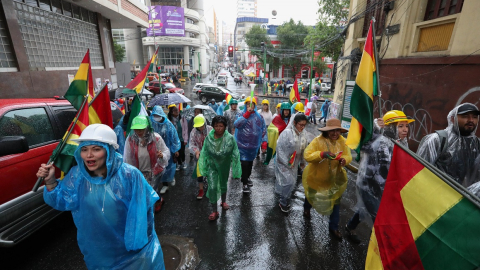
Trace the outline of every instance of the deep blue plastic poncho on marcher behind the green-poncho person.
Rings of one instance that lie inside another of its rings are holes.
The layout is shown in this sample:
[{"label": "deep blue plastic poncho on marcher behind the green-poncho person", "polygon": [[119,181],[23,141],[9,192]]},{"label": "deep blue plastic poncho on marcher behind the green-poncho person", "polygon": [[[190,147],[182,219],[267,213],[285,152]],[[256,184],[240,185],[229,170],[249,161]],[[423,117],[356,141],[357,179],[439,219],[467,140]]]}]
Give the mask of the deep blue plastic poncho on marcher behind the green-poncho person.
[{"label": "deep blue plastic poncho on marcher behind the green-poncho person", "polygon": [[235,140],[240,151],[240,160],[253,161],[263,139],[266,141],[267,128],[263,117],[258,114],[256,108],[248,119],[243,117],[246,111],[247,107],[245,106],[243,113],[238,115],[234,123]]}]

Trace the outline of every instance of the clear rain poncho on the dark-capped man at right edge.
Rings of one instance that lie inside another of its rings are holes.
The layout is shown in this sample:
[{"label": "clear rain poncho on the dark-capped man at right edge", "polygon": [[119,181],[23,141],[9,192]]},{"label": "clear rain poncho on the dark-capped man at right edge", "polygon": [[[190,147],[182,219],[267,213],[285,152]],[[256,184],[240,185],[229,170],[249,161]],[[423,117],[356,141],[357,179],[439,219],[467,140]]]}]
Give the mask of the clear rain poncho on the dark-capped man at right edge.
[{"label": "clear rain poncho on the dark-capped man at right edge", "polygon": [[440,136],[432,133],[422,139],[417,154],[460,184],[468,187],[475,182],[474,179],[466,178],[475,169],[474,162],[480,153],[480,141],[475,136],[476,128],[468,136],[460,135],[457,120],[457,111],[460,106],[451,110],[447,116],[448,127],[445,131],[448,139],[444,150],[440,149]]}]

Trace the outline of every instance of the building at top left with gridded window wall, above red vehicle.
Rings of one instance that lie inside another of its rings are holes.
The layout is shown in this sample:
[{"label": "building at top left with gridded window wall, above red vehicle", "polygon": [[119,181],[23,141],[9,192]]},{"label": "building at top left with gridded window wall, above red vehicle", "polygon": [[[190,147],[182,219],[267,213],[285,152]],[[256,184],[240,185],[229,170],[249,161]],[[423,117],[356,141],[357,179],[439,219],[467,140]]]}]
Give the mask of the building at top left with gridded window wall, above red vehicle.
[{"label": "building at top left with gridded window wall, above red vehicle", "polygon": [[147,26],[142,0],[0,2],[2,98],[63,95],[90,49],[95,80],[116,86],[112,28]]}]

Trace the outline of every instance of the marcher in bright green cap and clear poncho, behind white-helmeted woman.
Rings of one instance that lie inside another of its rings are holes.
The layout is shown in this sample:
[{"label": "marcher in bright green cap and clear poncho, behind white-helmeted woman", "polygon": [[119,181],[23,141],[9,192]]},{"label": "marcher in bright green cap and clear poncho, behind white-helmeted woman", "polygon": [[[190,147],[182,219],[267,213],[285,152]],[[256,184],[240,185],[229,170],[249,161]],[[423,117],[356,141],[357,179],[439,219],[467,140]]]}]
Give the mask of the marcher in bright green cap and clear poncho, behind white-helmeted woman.
[{"label": "marcher in bright green cap and clear poncho, behind white-helmeted woman", "polygon": [[[147,182],[154,187],[170,159],[170,150],[162,137],[153,132],[147,116],[139,115],[132,121],[123,162],[139,169]],[[163,198],[155,204],[155,212],[160,211]]]}]

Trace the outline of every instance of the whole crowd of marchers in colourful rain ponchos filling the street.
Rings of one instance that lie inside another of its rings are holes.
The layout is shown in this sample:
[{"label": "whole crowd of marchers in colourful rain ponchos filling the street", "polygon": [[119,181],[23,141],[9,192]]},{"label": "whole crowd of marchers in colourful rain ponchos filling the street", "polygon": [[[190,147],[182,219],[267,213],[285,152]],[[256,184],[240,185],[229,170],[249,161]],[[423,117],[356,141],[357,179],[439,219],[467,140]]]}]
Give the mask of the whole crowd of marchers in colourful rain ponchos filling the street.
[{"label": "whole crowd of marchers in colourful rain ponchos filling the street", "polygon": [[[360,241],[355,228],[361,221],[375,220],[393,141],[408,147],[409,125],[414,120],[397,110],[372,119],[373,135],[362,147],[356,179],[358,210],[341,230],[345,167],[352,161],[352,151],[342,136],[348,130],[338,119],[328,119],[319,128],[320,135],[311,139],[305,127],[317,119],[304,114],[302,103],[278,104],[272,114],[268,100],[258,104],[255,97],[247,97],[242,102],[243,108],[236,100],[222,103],[221,114],[210,121],[202,109],[195,109],[194,117],[187,120],[176,105],[155,106],[148,116],[135,116],[127,127],[133,117],[127,112],[115,130],[101,124],[84,129],[76,139],[78,165],[63,180],[55,178],[52,165],[41,165],[37,176],[45,179],[45,202],[72,212],[89,269],[164,269],[154,214],[162,208],[162,194],[175,185],[175,172],[189,167],[188,154],[194,161],[189,164],[191,181],[198,183],[197,199],[206,196],[212,206],[208,220],[218,219],[219,201],[223,211],[229,209],[230,178],[239,179],[241,192],[248,196],[255,184],[250,178],[254,160],[266,155],[274,164],[279,211],[290,211],[292,192],[301,176],[304,217],[309,219],[313,208],[329,217],[333,237],[341,239],[343,231],[352,241]],[[479,114],[470,103],[455,107],[446,116],[448,127],[427,135],[417,150],[419,156],[477,195],[480,140],[475,133]]]}]

